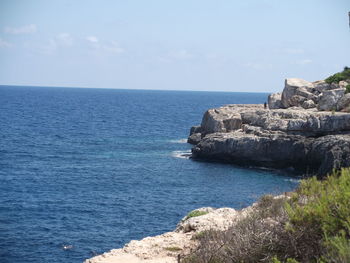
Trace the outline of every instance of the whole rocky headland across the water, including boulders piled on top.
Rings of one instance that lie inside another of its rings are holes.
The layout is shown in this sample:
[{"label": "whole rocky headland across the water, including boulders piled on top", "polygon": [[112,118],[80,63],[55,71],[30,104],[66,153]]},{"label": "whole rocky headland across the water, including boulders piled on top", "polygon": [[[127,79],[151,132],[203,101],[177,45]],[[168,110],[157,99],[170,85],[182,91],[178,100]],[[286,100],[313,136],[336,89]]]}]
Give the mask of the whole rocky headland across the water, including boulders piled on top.
[{"label": "whole rocky headland across the water, including boulders piled on top", "polygon": [[[350,94],[346,81],[287,79],[263,105],[208,110],[191,128],[194,159],[238,165],[296,168],[325,175],[350,166]],[[332,111],[327,111],[332,110]]]}]

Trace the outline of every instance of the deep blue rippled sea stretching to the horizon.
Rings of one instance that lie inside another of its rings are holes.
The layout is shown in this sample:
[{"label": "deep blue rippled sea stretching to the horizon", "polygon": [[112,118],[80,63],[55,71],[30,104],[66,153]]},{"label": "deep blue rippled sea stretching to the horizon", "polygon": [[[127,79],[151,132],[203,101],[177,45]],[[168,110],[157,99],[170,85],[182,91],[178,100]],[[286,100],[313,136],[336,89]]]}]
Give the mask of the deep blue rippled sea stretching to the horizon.
[{"label": "deep blue rippled sea stretching to the horizon", "polygon": [[82,262],[195,208],[294,189],[283,172],[182,155],[205,110],[266,97],[0,86],[0,262]]}]

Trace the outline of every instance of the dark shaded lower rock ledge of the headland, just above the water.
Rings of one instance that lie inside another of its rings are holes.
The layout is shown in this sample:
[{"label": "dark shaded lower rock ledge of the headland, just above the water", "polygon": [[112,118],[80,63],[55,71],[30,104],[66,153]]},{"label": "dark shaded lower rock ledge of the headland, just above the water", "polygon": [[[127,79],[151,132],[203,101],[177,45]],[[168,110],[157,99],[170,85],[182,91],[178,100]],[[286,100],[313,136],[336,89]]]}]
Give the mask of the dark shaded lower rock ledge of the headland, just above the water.
[{"label": "dark shaded lower rock ledge of the headland, just above the water", "polygon": [[288,134],[255,136],[236,131],[205,137],[192,149],[193,158],[228,161],[239,165],[294,167],[320,176],[350,166],[350,134],[316,139]]}]

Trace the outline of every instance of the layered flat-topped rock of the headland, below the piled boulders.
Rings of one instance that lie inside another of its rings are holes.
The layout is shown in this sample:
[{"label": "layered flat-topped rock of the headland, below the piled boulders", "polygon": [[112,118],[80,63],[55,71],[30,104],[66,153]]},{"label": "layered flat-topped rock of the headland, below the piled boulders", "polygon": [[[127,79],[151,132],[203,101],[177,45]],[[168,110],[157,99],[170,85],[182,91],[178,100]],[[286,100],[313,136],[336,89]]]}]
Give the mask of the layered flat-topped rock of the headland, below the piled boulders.
[{"label": "layered flat-topped rock of the headland, below the piled boulders", "polygon": [[[224,114],[219,116],[220,112]],[[215,114],[216,122],[208,121],[211,114]],[[234,130],[231,125],[226,127],[230,116],[240,119],[241,125]],[[193,158],[294,167],[318,175],[350,166],[349,113],[227,105],[205,113],[202,133],[204,136],[192,149]]]}]

